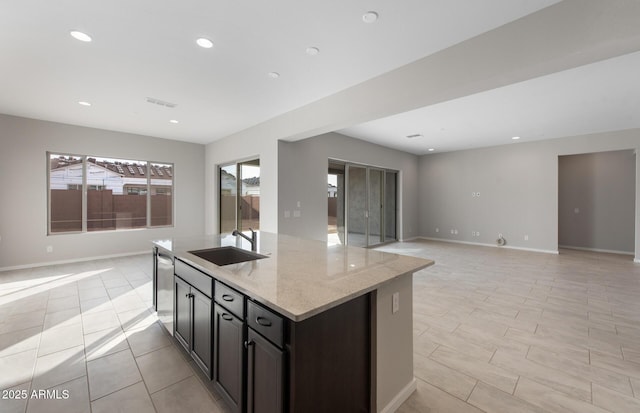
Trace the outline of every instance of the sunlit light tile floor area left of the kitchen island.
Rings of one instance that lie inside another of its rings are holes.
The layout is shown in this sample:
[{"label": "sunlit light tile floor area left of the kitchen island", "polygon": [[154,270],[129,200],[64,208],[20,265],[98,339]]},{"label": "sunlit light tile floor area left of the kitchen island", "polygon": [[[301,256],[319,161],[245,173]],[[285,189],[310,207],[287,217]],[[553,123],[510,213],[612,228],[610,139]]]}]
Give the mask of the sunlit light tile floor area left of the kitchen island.
[{"label": "sunlit light tile floor area left of the kitchen island", "polygon": [[150,254],[0,272],[0,412],[226,412],[152,313],[151,272]]}]

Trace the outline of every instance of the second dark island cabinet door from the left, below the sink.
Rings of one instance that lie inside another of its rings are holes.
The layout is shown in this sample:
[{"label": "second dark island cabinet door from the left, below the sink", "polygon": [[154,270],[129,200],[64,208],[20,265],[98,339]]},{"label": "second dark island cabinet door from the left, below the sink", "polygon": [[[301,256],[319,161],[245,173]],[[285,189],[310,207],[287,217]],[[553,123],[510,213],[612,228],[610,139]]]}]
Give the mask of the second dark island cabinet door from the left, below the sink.
[{"label": "second dark island cabinet door from the left, below the sink", "polygon": [[211,298],[198,290],[191,289],[193,299],[193,343],[191,356],[200,365],[207,377],[211,378],[211,323],[213,303]]}]

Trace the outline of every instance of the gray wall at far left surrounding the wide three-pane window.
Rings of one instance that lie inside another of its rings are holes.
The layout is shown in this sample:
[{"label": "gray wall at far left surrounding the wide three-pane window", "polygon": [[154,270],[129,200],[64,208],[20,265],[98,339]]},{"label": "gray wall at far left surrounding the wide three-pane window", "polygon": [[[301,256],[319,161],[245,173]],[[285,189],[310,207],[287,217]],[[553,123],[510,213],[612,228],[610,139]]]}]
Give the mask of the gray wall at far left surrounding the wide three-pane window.
[{"label": "gray wall at far left surrounding the wide three-pane window", "polygon": [[[7,115],[0,145],[0,269],[150,251],[153,239],[204,232],[202,145]],[[47,151],[174,163],[175,226],[47,235]]]}]

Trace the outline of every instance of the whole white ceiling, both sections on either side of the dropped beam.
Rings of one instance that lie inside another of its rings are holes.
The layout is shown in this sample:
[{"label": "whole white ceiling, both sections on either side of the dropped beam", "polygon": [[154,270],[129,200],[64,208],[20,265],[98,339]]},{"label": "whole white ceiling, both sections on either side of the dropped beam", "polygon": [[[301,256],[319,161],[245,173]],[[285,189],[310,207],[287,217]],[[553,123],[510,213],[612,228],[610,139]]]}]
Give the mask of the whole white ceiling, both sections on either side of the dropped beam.
[{"label": "whole white ceiling, both sections on either side of the dropped beam", "polygon": [[[1,0],[0,113],[208,143],[557,2]],[[376,23],[362,21],[369,10]],[[73,39],[73,29],[93,42]],[[214,47],[198,47],[201,36]],[[310,46],[320,53],[308,56]],[[639,61],[612,59],[341,132],[425,153],[514,134],[639,127]],[[404,137],[412,133],[424,137]]]}]

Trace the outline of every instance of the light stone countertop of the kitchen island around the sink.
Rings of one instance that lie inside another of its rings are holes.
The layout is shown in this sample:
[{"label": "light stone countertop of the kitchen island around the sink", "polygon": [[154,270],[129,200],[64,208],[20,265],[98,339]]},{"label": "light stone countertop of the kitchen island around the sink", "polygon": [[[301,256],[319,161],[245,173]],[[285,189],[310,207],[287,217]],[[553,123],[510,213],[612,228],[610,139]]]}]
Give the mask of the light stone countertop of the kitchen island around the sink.
[{"label": "light stone countertop of the kitchen island around the sink", "polygon": [[268,258],[221,267],[188,251],[221,246],[250,250],[249,243],[223,234],[156,240],[154,244],[293,321],[434,264],[423,258],[268,232],[258,233],[257,251]]}]

